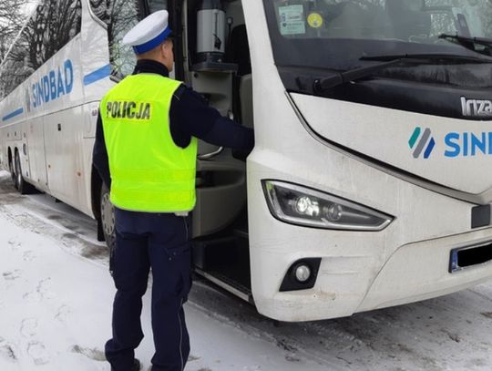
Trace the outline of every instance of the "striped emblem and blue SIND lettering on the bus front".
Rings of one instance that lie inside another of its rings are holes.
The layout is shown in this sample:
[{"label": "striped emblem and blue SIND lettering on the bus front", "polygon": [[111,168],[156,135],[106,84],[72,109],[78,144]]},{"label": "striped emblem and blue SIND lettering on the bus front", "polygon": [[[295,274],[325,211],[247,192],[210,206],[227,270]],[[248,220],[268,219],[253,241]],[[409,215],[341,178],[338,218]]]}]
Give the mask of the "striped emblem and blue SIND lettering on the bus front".
[{"label": "striped emblem and blue SIND lettering on the bus front", "polygon": [[[432,136],[431,129],[417,127],[408,139],[408,145],[414,150],[415,159],[421,154],[424,159],[428,159],[436,146],[436,140]],[[444,146],[443,154],[449,158],[492,155],[492,131],[478,133],[452,131],[445,135]]]}]

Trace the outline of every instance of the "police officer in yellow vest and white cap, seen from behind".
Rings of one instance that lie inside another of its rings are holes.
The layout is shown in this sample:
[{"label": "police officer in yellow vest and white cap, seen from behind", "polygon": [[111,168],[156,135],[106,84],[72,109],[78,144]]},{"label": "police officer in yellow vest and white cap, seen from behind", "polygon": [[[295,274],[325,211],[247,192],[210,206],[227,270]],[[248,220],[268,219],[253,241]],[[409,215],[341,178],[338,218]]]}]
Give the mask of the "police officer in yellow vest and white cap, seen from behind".
[{"label": "police officer in yellow vest and white cap, seen from behind", "polygon": [[183,304],[190,292],[190,222],[195,205],[197,138],[247,154],[251,129],[220,116],[191,88],[169,78],[174,55],[168,12],[138,23],[123,38],[137,55],[133,75],[102,99],[94,167],[116,208],[114,371],[138,370],[141,297],[152,268],[153,371],[182,371],[190,354]]}]

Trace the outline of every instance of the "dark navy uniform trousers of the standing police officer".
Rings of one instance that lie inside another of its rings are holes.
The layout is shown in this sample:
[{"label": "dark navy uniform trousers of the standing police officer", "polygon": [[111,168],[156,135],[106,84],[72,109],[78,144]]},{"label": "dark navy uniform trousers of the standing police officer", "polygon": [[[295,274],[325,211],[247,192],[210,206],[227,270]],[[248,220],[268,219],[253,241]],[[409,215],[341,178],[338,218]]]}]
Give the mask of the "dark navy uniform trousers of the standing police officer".
[{"label": "dark navy uniform trousers of the standing police officer", "polygon": [[183,304],[191,287],[190,218],[116,209],[113,337],[105,351],[113,371],[129,371],[144,335],[142,296],[152,269],[152,371],[182,371],[190,354]]}]

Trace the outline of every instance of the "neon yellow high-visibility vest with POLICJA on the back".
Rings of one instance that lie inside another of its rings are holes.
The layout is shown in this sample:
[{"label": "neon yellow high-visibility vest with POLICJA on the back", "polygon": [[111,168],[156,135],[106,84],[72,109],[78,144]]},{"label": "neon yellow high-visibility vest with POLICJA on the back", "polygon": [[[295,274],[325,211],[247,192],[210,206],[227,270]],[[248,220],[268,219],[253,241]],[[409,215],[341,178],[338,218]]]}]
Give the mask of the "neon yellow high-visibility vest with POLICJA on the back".
[{"label": "neon yellow high-visibility vest with POLICJA on the back", "polygon": [[133,75],[101,101],[110,201],[120,209],[176,212],[195,206],[197,139],[181,149],[169,129],[170,103],[180,84],[155,74]]}]

